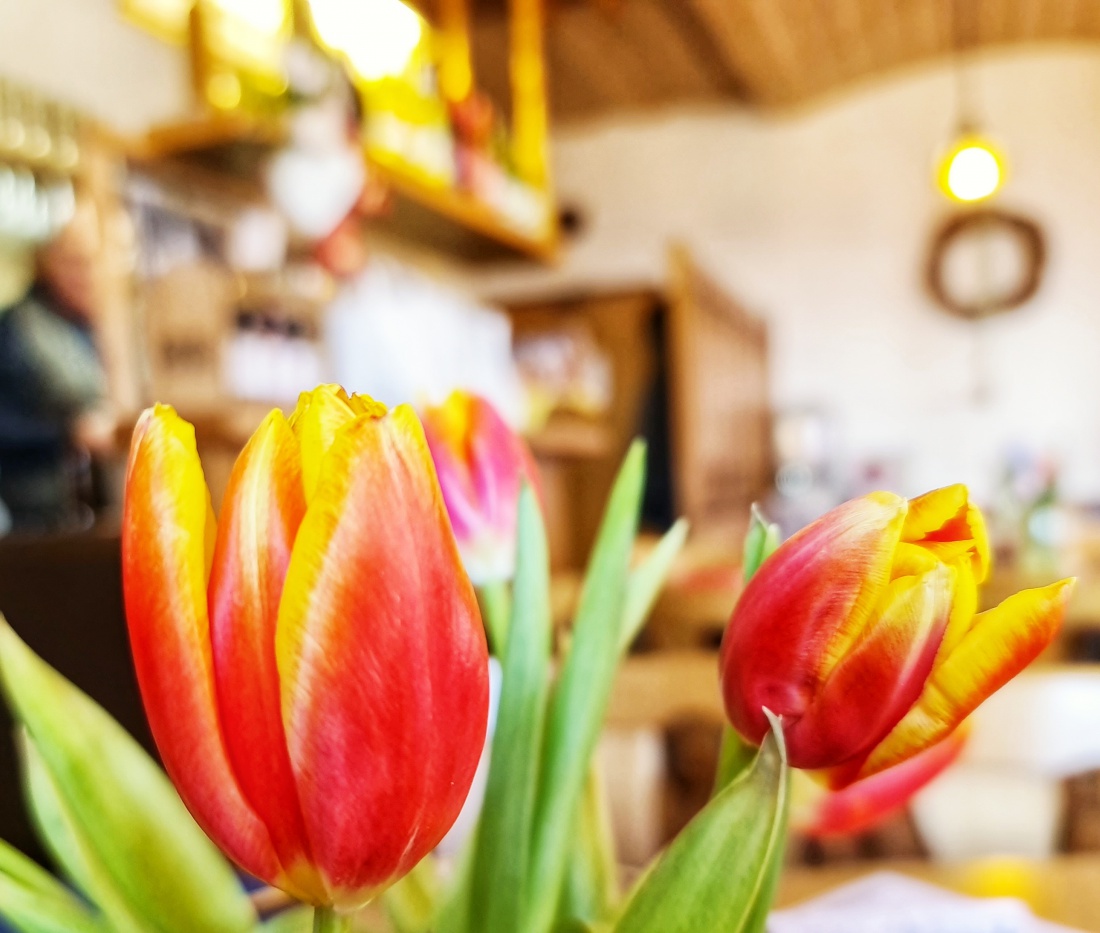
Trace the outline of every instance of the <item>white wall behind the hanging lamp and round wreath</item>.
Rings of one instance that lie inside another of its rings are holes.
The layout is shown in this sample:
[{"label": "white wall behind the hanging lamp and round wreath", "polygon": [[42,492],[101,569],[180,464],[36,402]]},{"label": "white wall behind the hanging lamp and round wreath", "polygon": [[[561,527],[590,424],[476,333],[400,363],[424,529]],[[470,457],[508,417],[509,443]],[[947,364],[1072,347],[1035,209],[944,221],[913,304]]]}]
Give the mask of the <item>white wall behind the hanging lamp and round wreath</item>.
[{"label": "white wall behind the hanging lamp and round wreath", "polygon": [[909,492],[961,480],[988,494],[1005,446],[1024,442],[1062,461],[1068,494],[1100,501],[1100,48],[1001,54],[978,87],[1011,162],[1000,204],[1041,220],[1049,246],[1038,296],[980,337],[921,281],[947,210],[932,185],[953,125],[944,66],[783,118],[562,133],[559,187],[587,230],[560,270],[501,271],[484,289],[657,281],[682,239],[770,321],[776,403],[831,413],[843,459],[898,457]]}]

